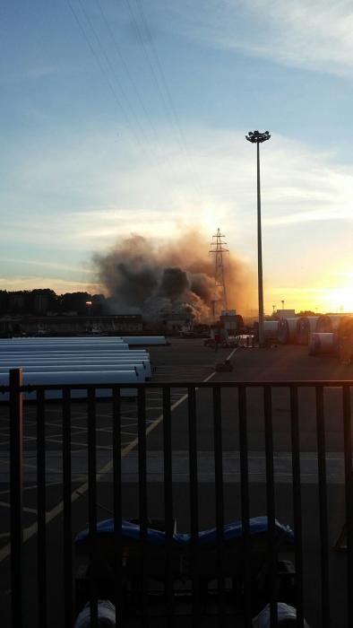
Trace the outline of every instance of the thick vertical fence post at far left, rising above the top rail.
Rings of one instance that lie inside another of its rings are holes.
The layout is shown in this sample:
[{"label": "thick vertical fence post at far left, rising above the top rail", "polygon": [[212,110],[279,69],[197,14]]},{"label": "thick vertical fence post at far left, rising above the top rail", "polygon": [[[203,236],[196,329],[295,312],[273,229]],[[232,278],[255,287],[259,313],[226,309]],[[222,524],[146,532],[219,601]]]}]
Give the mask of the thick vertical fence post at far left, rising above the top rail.
[{"label": "thick vertical fence post at far left, rising above the top rail", "polygon": [[21,369],[9,371],[9,384],[12,625],[22,628],[23,408]]}]

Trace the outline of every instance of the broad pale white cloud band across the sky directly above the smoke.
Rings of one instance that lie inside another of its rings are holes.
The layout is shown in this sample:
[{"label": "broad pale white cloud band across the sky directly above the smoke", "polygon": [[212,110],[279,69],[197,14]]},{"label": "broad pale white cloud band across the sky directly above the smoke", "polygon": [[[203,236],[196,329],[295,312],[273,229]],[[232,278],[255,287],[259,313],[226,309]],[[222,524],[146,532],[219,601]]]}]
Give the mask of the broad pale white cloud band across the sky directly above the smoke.
[{"label": "broad pale white cloud band across the sky directly above the smoke", "polygon": [[[7,197],[3,195],[3,257],[14,259],[13,247],[21,244],[27,268],[26,249],[31,250],[31,259],[35,259],[33,251],[40,249],[40,259],[47,256],[49,262],[49,266],[43,262],[41,275],[49,274],[50,265],[58,265],[62,271],[57,268],[56,276],[72,273],[82,282],[75,267],[130,233],[168,240],[176,230],[196,227],[205,234],[207,247],[220,226],[231,249],[255,264],[254,147],[240,130],[189,127],[186,135],[187,157],[167,132],[162,150],[144,144],[143,153],[127,144],[116,150],[109,134],[73,137],[70,145],[57,144],[55,159],[48,159],[50,148],[45,144],[35,154],[24,150],[30,159],[19,159],[16,181],[10,174]],[[353,220],[353,169],[338,163],[335,155],[276,133],[261,150],[266,274],[272,284],[275,276],[283,282],[279,245],[283,243],[282,255],[288,258],[291,251],[294,258],[296,238],[301,249],[307,244],[307,263],[316,256],[321,260],[320,272],[327,271],[331,259],[325,261],[323,251],[330,249],[331,258],[338,254],[339,239],[345,238],[347,222]],[[149,160],[145,153],[150,154]],[[33,266],[39,268],[40,259]],[[17,269],[16,275],[28,275],[27,270],[21,273],[18,264]]]}]

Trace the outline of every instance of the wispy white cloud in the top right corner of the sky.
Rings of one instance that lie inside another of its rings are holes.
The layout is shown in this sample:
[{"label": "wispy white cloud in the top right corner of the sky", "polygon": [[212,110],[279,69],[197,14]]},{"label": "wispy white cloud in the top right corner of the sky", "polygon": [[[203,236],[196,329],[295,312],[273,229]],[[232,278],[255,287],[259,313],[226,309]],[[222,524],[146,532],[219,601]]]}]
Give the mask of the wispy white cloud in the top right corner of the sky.
[{"label": "wispy white cloud in the top right corner of the sky", "polygon": [[344,74],[353,69],[353,7],[348,0],[182,0],[170,28],[222,48]]}]

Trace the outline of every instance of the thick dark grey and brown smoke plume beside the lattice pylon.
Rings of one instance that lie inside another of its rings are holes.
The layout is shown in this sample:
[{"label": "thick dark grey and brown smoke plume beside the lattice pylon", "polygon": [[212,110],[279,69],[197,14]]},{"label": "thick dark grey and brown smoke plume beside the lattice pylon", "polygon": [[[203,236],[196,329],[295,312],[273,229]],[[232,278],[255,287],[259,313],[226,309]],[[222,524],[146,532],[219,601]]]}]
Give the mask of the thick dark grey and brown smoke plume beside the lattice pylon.
[{"label": "thick dark grey and brown smoke plume beside the lattice pylon", "polygon": [[[214,256],[209,239],[194,232],[168,244],[132,235],[94,257],[98,281],[112,310],[141,312],[150,321],[207,321],[215,286]],[[233,254],[224,255],[228,308],[241,312],[248,305],[253,276]]]}]

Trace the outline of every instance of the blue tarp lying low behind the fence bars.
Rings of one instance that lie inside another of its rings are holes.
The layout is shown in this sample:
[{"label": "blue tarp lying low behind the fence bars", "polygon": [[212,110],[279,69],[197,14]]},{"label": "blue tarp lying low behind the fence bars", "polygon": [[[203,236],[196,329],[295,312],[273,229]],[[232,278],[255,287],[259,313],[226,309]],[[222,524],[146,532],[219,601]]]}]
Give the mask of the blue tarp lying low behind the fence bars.
[{"label": "blue tarp lying low behind the fence bars", "polygon": [[[249,519],[250,534],[257,535],[267,532],[268,519],[267,517],[254,517]],[[111,535],[114,532],[114,520],[105,519],[99,521],[97,526],[99,535]],[[289,526],[284,526],[277,519],[275,521],[276,534],[284,536],[288,543],[294,543],[293,530]],[[131,523],[130,521],[122,522],[122,536],[123,538],[131,541],[140,540],[140,526]],[[155,530],[153,528],[147,528],[147,540],[151,545],[164,545],[165,532]],[[242,536],[242,523],[241,521],[235,521],[234,523],[228,523],[224,526],[224,540],[225,542],[235,541]],[[80,543],[89,537],[89,530],[82,530],[77,536],[75,541]],[[188,545],[191,540],[190,534],[174,534],[173,541],[176,545]],[[199,545],[214,545],[217,540],[217,528],[211,528],[209,530],[202,530],[199,532]]]}]

